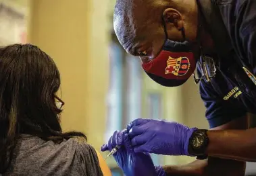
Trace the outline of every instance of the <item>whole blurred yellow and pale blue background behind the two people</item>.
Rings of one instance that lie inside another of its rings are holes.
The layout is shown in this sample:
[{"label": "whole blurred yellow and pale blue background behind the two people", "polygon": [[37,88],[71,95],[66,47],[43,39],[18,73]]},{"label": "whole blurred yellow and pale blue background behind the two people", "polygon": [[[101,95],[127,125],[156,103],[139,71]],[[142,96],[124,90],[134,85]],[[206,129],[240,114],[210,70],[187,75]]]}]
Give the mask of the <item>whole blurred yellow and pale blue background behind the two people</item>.
[{"label": "whole blurred yellow and pale blue background behind the two people", "polygon": [[[115,130],[136,118],[177,121],[208,128],[199,87],[190,79],[161,87],[145,75],[113,33],[115,0],[0,0],[0,44],[30,42],[55,60],[66,102],[63,130],[88,136],[97,150]],[[102,155],[106,155],[102,153]],[[193,161],[152,155],[155,165]],[[116,162],[108,159],[118,175]]]}]

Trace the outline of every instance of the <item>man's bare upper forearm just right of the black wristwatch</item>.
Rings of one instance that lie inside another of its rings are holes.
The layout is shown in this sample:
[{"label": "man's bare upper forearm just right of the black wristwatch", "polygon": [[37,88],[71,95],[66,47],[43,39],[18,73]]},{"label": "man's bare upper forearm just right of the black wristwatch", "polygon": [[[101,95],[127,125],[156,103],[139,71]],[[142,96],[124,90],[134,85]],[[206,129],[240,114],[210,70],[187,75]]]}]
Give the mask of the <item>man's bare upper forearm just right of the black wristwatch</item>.
[{"label": "man's bare upper forearm just right of the black wristwatch", "polygon": [[212,130],[207,132],[211,157],[256,161],[256,128],[249,130]]}]

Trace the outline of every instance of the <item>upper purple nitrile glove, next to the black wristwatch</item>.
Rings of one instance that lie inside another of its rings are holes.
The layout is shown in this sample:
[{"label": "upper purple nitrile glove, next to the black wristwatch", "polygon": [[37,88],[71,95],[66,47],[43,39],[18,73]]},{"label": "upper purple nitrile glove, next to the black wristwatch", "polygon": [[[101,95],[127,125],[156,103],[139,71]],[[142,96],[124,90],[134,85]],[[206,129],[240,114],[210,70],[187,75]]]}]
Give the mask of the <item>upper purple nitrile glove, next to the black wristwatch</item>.
[{"label": "upper purple nitrile glove, next to the black wristwatch", "polygon": [[196,129],[176,122],[149,119],[136,119],[127,127],[134,152],[187,156],[191,156],[188,142]]}]

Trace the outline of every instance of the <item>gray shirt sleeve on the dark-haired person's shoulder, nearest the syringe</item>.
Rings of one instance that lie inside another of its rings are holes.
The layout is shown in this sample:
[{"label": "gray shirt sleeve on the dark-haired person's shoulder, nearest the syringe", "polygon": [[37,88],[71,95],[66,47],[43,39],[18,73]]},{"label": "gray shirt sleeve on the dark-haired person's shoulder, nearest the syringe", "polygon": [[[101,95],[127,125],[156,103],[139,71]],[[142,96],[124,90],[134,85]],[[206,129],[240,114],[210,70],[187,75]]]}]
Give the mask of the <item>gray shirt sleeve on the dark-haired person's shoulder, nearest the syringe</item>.
[{"label": "gray shirt sleeve on the dark-haired person's shoulder, nearest the syringe", "polygon": [[103,176],[97,152],[93,146],[87,144],[85,141],[79,141],[76,148],[76,157],[87,176]]}]

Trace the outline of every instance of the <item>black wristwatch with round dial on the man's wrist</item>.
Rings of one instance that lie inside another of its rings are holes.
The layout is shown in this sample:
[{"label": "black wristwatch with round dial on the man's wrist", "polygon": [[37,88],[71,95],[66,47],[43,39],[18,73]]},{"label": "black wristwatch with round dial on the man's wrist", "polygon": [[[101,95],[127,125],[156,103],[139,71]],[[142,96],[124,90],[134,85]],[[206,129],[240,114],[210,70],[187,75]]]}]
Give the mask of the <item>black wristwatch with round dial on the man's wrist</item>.
[{"label": "black wristwatch with round dial on the man's wrist", "polygon": [[189,138],[188,152],[190,155],[196,156],[197,159],[207,159],[208,156],[205,155],[205,152],[208,144],[207,130],[195,130]]}]

